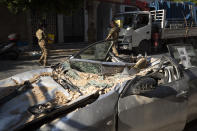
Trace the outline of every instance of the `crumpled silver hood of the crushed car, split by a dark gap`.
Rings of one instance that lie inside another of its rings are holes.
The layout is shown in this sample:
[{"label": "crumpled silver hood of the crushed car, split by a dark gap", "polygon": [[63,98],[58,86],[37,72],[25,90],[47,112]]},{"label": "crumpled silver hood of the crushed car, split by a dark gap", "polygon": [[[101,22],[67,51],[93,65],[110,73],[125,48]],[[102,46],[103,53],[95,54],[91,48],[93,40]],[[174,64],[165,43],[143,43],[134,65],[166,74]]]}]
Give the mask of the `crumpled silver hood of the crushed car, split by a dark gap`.
[{"label": "crumpled silver hood of the crushed car, split by a dark gap", "polygon": [[[51,72],[51,68],[33,70],[0,81],[1,100],[14,90],[13,88],[16,84],[30,80],[35,75]],[[65,96],[69,95],[68,92],[66,92],[50,76],[40,78],[40,80],[33,83],[32,86],[33,89],[14,97],[6,103],[1,103],[0,130],[14,129],[17,126],[34,119],[34,115],[27,111],[30,106],[51,101],[57,93],[64,94]]]}]

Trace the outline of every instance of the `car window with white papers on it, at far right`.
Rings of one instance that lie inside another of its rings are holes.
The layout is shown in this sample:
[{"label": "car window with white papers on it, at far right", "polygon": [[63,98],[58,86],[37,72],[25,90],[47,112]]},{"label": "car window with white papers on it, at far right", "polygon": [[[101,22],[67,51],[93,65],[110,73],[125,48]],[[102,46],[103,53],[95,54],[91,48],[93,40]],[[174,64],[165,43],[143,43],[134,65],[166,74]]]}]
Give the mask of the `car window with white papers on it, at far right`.
[{"label": "car window with white papers on it, at far right", "polygon": [[170,54],[185,68],[197,66],[197,51],[192,45],[169,45]]}]

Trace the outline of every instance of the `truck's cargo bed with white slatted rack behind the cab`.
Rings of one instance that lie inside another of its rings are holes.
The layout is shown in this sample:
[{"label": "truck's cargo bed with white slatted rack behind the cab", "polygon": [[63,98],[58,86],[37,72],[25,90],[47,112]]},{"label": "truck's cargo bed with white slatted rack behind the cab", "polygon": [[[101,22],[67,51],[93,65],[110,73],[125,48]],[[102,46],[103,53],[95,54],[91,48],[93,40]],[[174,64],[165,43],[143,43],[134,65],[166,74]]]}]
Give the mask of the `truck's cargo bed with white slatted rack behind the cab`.
[{"label": "truck's cargo bed with white slatted rack behind the cab", "polygon": [[152,30],[159,32],[161,39],[197,36],[197,26],[192,21],[166,19],[166,10],[153,10]]}]

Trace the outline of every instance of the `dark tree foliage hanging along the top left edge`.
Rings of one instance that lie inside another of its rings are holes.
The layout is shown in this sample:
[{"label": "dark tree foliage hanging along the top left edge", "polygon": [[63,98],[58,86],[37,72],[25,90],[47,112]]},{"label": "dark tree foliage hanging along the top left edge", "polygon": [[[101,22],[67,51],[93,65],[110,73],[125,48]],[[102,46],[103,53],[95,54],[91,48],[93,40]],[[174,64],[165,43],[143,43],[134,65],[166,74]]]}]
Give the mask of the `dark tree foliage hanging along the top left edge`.
[{"label": "dark tree foliage hanging along the top left edge", "polygon": [[32,10],[41,13],[70,14],[83,5],[83,0],[0,0],[13,13]]}]

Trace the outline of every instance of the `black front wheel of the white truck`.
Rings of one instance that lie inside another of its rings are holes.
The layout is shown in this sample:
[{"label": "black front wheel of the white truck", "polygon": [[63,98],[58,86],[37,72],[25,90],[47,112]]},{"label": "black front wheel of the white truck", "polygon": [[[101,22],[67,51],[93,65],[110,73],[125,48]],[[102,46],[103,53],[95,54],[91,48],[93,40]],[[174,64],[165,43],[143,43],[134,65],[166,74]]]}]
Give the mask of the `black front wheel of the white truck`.
[{"label": "black front wheel of the white truck", "polygon": [[151,42],[148,40],[143,40],[140,42],[140,45],[137,48],[137,53],[145,55],[146,52],[147,54],[150,54],[151,50],[152,50]]}]

